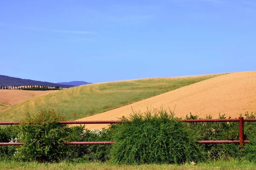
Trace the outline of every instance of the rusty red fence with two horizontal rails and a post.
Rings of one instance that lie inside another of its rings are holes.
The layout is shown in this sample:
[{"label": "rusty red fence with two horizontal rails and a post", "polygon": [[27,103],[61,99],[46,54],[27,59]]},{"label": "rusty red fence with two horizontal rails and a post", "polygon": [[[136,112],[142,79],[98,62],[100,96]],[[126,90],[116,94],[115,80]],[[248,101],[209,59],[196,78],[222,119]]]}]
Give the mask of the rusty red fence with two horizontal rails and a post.
[{"label": "rusty red fence with two horizontal rails and a post", "polygon": [[[42,120],[41,120],[42,121]],[[239,140],[208,140],[208,141],[197,141],[201,144],[228,144],[237,143],[243,145],[244,143],[250,142],[249,140],[244,140],[244,122],[256,122],[256,119],[244,119],[239,117],[239,119],[186,119],[179,120],[181,122],[196,123],[196,122],[239,122]],[[112,124],[112,123],[123,123],[125,121],[61,121],[58,124]],[[21,122],[0,122],[0,125],[19,125]],[[52,122],[55,123],[55,122]],[[115,142],[62,142],[64,145],[73,144],[114,144]],[[0,145],[23,145],[22,142],[0,142]]]}]

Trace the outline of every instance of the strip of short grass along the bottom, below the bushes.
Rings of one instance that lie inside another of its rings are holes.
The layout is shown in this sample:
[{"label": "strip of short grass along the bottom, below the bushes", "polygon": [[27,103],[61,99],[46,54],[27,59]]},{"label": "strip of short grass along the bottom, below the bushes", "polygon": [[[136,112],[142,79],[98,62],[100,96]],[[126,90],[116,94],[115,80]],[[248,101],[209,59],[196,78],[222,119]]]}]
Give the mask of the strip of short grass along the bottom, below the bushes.
[{"label": "strip of short grass along the bottom, below the bushes", "polygon": [[191,164],[143,164],[143,165],[117,165],[111,163],[38,163],[0,161],[0,167],[4,170],[256,170],[256,163],[249,161],[210,161]]}]

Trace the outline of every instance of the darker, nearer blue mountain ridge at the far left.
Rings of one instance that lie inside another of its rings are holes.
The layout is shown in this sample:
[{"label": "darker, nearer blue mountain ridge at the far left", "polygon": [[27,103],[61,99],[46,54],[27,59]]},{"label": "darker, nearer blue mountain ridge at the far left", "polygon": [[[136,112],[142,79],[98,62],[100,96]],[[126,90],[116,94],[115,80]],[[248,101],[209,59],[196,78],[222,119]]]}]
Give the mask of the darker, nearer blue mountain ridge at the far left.
[{"label": "darker, nearer blue mountain ridge at the far left", "polygon": [[75,85],[62,85],[52,82],[41,82],[31,79],[20,79],[16,77],[9,77],[9,76],[3,76],[0,75],[0,85],[16,85],[16,86],[23,86],[23,85],[46,85],[46,86],[53,86],[55,85],[60,86],[60,88],[70,88]]}]

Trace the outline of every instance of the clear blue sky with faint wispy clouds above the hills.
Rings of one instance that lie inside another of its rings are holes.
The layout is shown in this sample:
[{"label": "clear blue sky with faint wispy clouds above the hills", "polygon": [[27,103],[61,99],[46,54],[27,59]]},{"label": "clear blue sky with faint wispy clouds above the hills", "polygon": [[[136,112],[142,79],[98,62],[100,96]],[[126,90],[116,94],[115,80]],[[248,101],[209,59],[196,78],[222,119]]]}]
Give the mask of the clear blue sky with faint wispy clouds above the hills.
[{"label": "clear blue sky with faint wispy clouds above the hills", "polygon": [[255,0],[2,0],[0,74],[106,82],[256,70]]}]

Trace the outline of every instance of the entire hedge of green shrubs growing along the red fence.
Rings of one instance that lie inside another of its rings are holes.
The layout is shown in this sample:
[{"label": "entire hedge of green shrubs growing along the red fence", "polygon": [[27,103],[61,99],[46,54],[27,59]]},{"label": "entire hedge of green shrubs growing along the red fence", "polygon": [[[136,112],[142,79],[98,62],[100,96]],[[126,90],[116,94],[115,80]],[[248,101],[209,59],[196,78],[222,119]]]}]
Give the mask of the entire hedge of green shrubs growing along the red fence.
[{"label": "entire hedge of green shrubs growing along the red fence", "polygon": [[[144,116],[143,116],[144,115]],[[22,146],[1,146],[0,159],[20,161],[112,161],[119,164],[181,164],[188,161],[247,159],[256,162],[256,122],[244,122],[245,140],[239,144],[197,144],[197,140],[239,140],[238,122],[180,122],[163,109],[123,117],[125,123],[108,129],[87,130],[84,126],[58,124],[61,113],[26,113],[20,126],[0,128],[0,142],[25,142]],[[225,119],[225,115],[220,115]],[[255,114],[245,114],[246,119]],[[186,116],[198,119],[198,116]],[[207,116],[206,119],[211,119]],[[61,142],[114,141],[113,145],[63,145]]]}]

